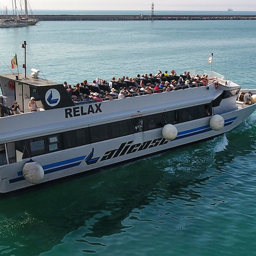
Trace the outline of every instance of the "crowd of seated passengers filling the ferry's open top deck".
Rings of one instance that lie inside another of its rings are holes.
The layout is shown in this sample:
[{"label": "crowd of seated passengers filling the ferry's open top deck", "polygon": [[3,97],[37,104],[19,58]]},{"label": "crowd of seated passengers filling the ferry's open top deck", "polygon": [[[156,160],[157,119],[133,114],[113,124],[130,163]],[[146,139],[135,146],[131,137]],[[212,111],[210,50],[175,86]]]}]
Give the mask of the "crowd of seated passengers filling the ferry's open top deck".
[{"label": "crowd of seated passengers filling the ferry's open top deck", "polygon": [[174,90],[186,89],[191,87],[207,86],[207,75],[198,74],[191,77],[189,71],[177,76],[172,70],[170,74],[167,71],[157,74],[142,74],[137,77],[112,78],[110,82],[97,78],[92,83],[84,80],[77,83],[74,87],[68,85],[65,81],[64,86],[74,102],[89,100],[113,100],[126,97],[139,96],[143,94],[169,92]]}]

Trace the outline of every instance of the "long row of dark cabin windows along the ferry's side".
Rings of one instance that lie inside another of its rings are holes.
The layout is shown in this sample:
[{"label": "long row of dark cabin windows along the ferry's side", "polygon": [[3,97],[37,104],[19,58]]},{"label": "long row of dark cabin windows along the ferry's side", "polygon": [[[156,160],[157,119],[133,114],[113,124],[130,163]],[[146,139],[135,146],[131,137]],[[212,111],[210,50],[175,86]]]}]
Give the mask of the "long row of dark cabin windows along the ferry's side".
[{"label": "long row of dark cabin windows along the ferry's side", "polygon": [[138,132],[163,127],[166,123],[177,124],[203,118],[206,110],[211,115],[211,105],[199,105],[122,121],[95,125],[74,131],[17,141],[16,149],[23,152],[23,159],[67,148],[114,139]]}]

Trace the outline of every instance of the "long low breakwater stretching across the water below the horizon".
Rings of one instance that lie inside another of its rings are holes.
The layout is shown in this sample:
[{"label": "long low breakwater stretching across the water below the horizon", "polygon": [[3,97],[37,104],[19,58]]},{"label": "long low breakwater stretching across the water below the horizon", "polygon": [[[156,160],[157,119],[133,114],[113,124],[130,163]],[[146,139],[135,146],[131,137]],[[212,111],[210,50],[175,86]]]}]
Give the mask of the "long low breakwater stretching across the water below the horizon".
[{"label": "long low breakwater stretching across the water below the horizon", "polygon": [[233,20],[256,15],[34,15],[39,20]]}]

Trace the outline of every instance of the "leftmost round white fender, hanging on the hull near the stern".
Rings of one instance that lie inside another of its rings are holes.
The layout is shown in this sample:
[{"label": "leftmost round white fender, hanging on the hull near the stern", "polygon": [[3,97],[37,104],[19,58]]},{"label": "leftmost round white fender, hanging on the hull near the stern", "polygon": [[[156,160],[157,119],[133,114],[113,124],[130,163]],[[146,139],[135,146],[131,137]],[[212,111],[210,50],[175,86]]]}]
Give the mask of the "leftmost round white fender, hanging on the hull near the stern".
[{"label": "leftmost round white fender, hanging on the hull near the stern", "polygon": [[39,183],[45,176],[42,166],[33,160],[29,160],[25,163],[22,173],[25,180],[32,184]]}]

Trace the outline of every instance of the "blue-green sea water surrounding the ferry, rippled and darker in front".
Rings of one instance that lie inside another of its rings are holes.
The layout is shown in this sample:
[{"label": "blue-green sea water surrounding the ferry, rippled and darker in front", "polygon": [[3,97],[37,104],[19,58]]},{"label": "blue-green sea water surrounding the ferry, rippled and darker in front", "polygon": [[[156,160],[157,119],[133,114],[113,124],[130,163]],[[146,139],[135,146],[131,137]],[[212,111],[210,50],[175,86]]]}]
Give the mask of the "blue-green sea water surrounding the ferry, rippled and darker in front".
[{"label": "blue-green sea water surrounding the ferry, rippled and darker in front", "polygon": [[[17,53],[24,73],[24,40],[28,73],[70,84],[209,70],[213,53],[212,70],[255,88],[255,32],[256,20],[40,22],[1,29],[0,69],[10,73]],[[209,141],[1,196],[0,253],[254,255],[255,119]]]}]

